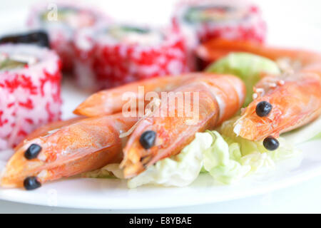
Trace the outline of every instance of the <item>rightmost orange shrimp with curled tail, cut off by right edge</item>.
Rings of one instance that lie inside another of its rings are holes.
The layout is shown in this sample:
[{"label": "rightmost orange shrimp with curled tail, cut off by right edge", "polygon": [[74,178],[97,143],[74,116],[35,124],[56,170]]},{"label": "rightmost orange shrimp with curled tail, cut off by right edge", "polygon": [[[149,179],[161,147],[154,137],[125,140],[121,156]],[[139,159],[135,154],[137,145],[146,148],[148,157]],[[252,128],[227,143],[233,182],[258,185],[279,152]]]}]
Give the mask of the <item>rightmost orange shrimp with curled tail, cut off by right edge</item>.
[{"label": "rightmost orange shrimp with curled tail, cut off by right edge", "polygon": [[[253,102],[241,113],[234,132],[248,140],[263,140],[310,123],[321,114],[321,55],[311,51],[272,48],[245,41],[216,40],[198,48],[205,61],[231,51],[245,51],[280,63],[280,76],[267,75],[255,85]],[[267,115],[259,116],[258,105],[270,103]]]}]

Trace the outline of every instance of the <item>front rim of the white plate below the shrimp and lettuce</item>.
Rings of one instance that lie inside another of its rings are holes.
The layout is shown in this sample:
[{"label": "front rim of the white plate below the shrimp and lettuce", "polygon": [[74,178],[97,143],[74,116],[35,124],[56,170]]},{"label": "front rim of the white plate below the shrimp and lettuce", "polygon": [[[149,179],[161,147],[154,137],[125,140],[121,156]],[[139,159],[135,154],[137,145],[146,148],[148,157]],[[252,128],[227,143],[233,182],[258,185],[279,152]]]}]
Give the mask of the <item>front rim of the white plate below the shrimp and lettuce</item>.
[{"label": "front rim of the white plate below the shrimp and lettuce", "polygon": [[128,190],[123,180],[74,177],[47,183],[34,191],[0,190],[0,199],[86,209],[146,209],[222,202],[263,194],[321,175],[320,147],[321,140],[307,142],[300,146],[302,160],[284,161],[276,170],[244,178],[238,185],[217,185],[209,175],[200,175],[188,187],[145,186]]}]

